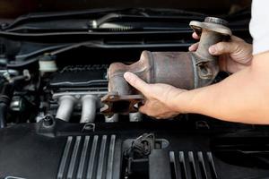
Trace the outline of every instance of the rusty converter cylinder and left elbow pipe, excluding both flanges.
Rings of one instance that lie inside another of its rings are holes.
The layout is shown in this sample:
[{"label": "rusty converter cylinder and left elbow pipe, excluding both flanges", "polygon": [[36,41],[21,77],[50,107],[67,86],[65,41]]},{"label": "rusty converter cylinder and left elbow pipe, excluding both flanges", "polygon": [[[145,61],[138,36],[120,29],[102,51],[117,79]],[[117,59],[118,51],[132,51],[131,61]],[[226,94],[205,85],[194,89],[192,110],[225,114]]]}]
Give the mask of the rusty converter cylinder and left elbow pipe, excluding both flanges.
[{"label": "rusty converter cylinder and left elbow pipe, excluding both flanges", "polygon": [[129,95],[134,89],[123,78],[124,72],[134,72],[148,83],[166,83],[178,88],[194,88],[193,62],[190,53],[143,51],[134,64],[111,64],[109,67],[108,91]]}]

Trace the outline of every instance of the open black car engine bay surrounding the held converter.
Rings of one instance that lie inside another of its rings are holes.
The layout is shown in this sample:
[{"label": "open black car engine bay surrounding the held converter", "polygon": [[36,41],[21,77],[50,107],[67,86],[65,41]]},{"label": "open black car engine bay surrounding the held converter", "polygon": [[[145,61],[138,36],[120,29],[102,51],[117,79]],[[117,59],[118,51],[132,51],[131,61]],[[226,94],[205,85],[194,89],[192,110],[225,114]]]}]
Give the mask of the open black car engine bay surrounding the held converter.
[{"label": "open black car engine bay surrounding the held converter", "polygon": [[[1,24],[0,178],[268,178],[268,126],[196,114],[157,120],[123,113],[125,101],[100,112],[110,64],[134,64],[144,50],[187,52],[189,21],[206,17],[160,12],[37,13]],[[251,42],[248,10],[221,18]]]}]

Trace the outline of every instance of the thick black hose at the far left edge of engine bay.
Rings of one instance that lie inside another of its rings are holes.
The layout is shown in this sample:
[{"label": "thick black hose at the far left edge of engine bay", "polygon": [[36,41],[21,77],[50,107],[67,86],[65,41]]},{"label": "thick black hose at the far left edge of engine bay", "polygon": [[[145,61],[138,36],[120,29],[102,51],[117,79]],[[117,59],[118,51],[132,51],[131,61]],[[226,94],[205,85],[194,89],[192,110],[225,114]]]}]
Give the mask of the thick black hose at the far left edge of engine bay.
[{"label": "thick black hose at the far left edge of engine bay", "polygon": [[13,96],[13,84],[8,82],[4,83],[2,91],[0,93],[0,128],[5,127],[6,114],[12,96]]}]

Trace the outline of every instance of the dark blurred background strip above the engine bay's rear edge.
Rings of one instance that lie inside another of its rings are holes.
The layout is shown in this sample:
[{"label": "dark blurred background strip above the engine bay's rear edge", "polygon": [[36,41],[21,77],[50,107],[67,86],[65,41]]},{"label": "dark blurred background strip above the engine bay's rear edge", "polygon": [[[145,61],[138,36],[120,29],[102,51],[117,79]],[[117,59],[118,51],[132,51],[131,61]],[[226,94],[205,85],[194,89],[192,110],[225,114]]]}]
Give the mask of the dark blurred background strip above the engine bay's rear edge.
[{"label": "dark blurred background strip above the engine bay's rear edge", "polygon": [[0,0],[0,19],[13,19],[25,13],[114,7],[177,8],[223,14],[239,11],[250,4],[251,0]]}]

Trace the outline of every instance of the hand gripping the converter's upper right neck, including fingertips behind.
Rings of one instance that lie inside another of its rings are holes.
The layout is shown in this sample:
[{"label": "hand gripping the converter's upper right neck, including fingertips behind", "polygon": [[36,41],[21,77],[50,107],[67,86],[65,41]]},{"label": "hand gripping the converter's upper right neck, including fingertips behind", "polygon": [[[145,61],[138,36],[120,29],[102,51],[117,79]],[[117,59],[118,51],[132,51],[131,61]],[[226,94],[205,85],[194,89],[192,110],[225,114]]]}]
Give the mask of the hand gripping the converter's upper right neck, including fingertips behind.
[{"label": "hand gripping the converter's upper right neck, including fingertips behind", "polygon": [[[193,38],[199,39],[194,32]],[[198,43],[193,44],[188,49],[195,51]],[[209,49],[211,55],[220,55],[219,64],[223,72],[239,72],[249,66],[252,62],[252,45],[245,42],[242,38],[231,36],[228,42],[219,42]]]}]

